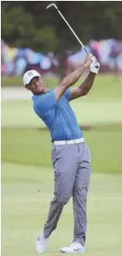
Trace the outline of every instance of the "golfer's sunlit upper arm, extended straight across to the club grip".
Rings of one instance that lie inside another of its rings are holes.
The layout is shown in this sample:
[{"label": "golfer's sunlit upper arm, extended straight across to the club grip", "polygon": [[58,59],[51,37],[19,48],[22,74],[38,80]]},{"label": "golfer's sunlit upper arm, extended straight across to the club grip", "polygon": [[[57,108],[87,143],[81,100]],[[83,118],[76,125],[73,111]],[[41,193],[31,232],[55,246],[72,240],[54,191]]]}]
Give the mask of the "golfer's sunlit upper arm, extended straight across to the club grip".
[{"label": "golfer's sunlit upper arm, extended straight across to the club grip", "polygon": [[79,77],[81,77],[81,75],[84,73],[87,67],[88,65],[84,63],[82,67],[76,69],[74,72],[69,74],[69,76],[64,77],[64,80],[61,83],[59,83],[56,88],[54,88],[54,93],[57,100],[62,97],[64,92],[70,86],[74,85],[74,83],[76,83],[79,80]]}]

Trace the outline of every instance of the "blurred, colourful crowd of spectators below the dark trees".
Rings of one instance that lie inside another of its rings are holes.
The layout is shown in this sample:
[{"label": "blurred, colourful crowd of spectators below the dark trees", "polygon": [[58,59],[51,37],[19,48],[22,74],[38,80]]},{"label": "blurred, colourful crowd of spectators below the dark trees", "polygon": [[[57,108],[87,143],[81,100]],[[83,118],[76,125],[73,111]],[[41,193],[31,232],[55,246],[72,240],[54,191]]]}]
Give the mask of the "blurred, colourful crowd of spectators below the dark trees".
[{"label": "blurred, colourful crowd of spectators below the dark trees", "polygon": [[[101,63],[101,72],[122,72],[122,40],[90,40],[86,46]],[[79,67],[86,54],[83,48],[78,52],[67,51],[66,64],[68,73]],[[59,66],[58,56],[53,52],[43,55],[30,48],[18,49],[9,47],[1,40],[1,75],[21,76],[28,69],[36,69],[40,73],[53,72],[53,67]]]}]

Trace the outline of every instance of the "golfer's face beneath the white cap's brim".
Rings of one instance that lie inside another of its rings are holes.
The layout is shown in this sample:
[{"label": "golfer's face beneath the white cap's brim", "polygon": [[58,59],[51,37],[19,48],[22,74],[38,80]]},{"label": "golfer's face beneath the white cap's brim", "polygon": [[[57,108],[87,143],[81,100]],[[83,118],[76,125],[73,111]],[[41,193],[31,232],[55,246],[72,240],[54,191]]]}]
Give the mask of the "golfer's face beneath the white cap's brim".
[{"label": "golfer's face beneath the white cap's brim", "polygon": [[41,77],[33,77],[28,87],[33,92],[33,94],[43,93],[43,90],[44,90],[43,79]]}]

